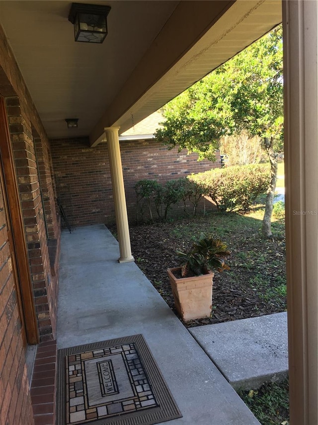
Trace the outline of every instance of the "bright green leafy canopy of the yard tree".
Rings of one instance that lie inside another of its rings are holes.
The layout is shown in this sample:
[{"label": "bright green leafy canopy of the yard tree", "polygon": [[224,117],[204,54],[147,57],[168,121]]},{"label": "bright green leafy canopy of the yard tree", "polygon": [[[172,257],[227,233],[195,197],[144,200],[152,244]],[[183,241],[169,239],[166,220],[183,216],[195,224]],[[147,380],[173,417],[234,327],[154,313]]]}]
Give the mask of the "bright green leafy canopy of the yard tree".
[{"label": "bright green leafy canopy of the yard tree", "polygon": [[157,139],[197,152],[199,159],[213,160],[221,136],[242,130],[282,144],[281,26],[169,102],[163,116]]}]

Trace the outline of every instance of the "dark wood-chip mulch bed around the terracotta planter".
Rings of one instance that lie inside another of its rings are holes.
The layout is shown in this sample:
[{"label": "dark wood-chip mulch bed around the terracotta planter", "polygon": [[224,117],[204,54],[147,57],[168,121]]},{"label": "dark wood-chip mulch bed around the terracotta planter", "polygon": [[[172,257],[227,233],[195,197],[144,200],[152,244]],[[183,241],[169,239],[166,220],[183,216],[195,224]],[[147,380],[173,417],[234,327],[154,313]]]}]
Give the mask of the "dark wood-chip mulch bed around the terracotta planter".
[{"label": "dark wood-chip mulch bed around the terracotta planter", "polygon": [[[186,225],[181,220],[181,225]],[[193,221],[192,221],[193,223]],[[204,219],[198,219],[198,226],[205,227]],[[115,231],[115,227],[110,230]],[[176,249],[187,248],[190,242],[171,236],[176,223],[157,223],[130,227],[132,252],[136,264],[158,290],[169,307],[174,309],[174,300],[168,281],[168,268],[179,266]],[[175,232],[174,232],[175,233]],[[230,232],[232,233],[232,232]],[[254,229],[243,228],[229,235],[228,247],[231,257],[228,264],[230,271],[215,272],[213,279],[213,311],[211,318],[191,320],[184,323],[187,327],[248,317],[261,316],[286,310],[286,298],[264,299],[259,290],[250,284],[257,276],[267,277],[275,286],[276,280],[285,277],[285,240],[278,238],[274,242],[264,241]],[[249,253],[248,260],[241,259],[241,254]]]}]

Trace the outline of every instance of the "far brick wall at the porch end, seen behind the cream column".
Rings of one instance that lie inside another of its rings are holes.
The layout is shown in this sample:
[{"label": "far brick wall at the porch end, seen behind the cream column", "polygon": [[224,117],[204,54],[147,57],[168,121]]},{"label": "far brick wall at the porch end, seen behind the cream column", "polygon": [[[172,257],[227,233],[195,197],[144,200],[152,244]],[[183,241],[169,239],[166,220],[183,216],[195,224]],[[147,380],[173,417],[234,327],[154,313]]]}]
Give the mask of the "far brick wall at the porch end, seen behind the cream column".
[{"label": "far brick wall at the porch end, seen behind the cream column", "polygon": [[[87,138],[51,140],[57,192],[74,226],[115,221],[107,144],[89,147]],[[134,185],[142,179],[160,182],[220,166],[197,161],[197,154],[169,150],[156,141],[120,142],[128,216],[136,219]]]}]

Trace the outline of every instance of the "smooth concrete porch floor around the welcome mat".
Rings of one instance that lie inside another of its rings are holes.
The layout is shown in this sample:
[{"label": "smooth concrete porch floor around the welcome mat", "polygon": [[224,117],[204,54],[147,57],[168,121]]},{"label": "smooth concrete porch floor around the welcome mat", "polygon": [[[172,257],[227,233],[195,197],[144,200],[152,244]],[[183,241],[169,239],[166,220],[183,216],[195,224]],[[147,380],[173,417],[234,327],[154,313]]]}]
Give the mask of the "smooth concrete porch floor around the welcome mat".
[{"label": "smooth concrete porch floor around the welcome mat", "polygon": [[57,348],[142,333],[183,415],[171,425],[259,425],[135,263],[119,264],[104,225],[61,242]]}]

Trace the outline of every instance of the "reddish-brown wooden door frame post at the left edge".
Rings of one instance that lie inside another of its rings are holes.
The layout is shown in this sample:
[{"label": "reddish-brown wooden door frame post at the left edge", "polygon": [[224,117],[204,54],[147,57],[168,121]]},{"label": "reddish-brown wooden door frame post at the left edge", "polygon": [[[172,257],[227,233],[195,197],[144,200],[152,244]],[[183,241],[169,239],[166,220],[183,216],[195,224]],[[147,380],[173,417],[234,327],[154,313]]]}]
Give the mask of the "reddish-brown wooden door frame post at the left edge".
[{"label": "reddish-brown wooden door frame post at the left edge", "polygon": [[18,269],[18,279],[24,312],[25,331],[28,344],[39,342],[37,317],[35,312],[31,273],[24,234],[24,225],[19,200],[19,191],[15,175],[13,152],[10,143],[6,108],[4,99],[0,96],[0,154],[4,174],[9,214],[12,224],[14,251]]}]

